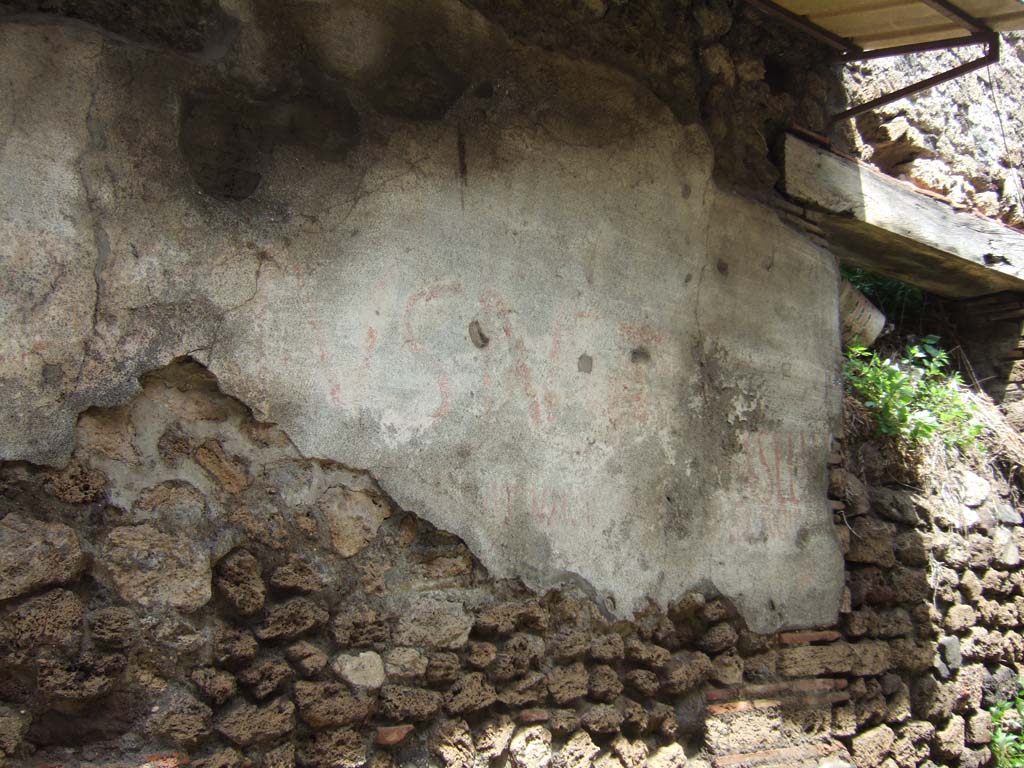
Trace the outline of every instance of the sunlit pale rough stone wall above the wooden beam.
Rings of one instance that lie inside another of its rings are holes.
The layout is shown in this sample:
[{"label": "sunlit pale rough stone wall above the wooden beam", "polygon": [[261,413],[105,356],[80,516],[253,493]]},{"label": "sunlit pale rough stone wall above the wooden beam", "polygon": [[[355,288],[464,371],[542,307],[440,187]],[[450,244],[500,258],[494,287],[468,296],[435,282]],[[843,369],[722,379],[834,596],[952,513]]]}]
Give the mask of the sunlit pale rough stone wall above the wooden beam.
[{"label": "sunlit pale rough stone wall above the wooden beam", "polygon": [[[847,68],[853,103],[950,70],[980,47],[920,53]],[[886,173],[974,209],[1024,225],[1024,37],[1002,36],[1001,60],[858,117],[854,151]]]}]

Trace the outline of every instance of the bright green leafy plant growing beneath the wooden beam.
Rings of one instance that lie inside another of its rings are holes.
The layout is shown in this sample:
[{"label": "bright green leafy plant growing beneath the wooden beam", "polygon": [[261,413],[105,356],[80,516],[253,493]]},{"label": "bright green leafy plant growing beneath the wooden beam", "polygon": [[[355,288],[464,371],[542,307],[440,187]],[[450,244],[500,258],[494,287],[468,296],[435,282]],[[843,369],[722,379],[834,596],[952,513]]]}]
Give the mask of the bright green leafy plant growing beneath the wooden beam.
[{"label": "bright green leafy plant growing beneath the wooden beam", "polygon": [[928,336],[909,345],[899,359],[852,345],[846,353],[846,381],[873,414],[880,433],[911,445],[939,436],[947,446],[978,447],[982,426],[959,374],[947,371],[949,355],[938,343],[938,336]]}]

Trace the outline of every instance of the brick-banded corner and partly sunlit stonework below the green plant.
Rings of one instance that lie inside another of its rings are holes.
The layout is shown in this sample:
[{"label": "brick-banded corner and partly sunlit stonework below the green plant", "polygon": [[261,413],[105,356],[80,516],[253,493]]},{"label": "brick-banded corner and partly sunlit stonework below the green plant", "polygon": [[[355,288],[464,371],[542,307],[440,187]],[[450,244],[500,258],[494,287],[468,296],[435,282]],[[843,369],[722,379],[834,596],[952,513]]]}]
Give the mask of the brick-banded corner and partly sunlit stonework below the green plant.
[{"label": "brick-banded corner and partly sunlit stonework below the green plant", "polygon": [[990,765],[987,711],[1024,662],[1018,487],[996,457],[901,459],[853,401],[836,449],[840,622],[778,635],[743,687],[706,692],[715,765],[816,766],[833,739],[858,768]]}]

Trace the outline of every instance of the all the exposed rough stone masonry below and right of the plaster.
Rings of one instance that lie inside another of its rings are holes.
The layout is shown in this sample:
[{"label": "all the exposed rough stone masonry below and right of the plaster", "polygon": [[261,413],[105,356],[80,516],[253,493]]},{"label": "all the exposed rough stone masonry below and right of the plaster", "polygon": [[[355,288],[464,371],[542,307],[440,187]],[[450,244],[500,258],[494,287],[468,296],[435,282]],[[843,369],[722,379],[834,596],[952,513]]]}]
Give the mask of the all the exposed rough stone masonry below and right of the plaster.
[{"label": "all the exposed rough stone masonry below and right of the plaster", "polygon": [[369,474],[303,457],[175,362],[83,414],[68,467],[2,466],[0,752],[164,768],[985,765],[984,710],[1024,660],[1014,492],[981,464],[901,469],[848,421],[831,459],[840,622],[765,635],[715,595],[627,622],[572,589],[494,579]]}]

